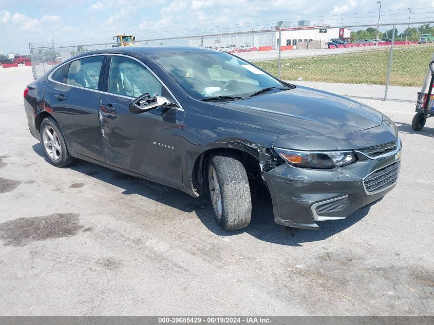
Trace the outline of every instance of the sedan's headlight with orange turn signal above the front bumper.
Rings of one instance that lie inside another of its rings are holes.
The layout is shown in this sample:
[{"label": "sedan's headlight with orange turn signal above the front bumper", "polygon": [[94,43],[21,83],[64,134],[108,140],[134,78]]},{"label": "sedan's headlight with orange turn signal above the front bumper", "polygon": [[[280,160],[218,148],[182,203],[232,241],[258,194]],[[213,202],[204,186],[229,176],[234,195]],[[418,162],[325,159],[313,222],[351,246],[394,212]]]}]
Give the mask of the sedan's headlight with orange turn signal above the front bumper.
[{"label": "sedan's headlight with orange turn signal above the front bumper", "polygon": [[303,168],[335,168],[357,160],[352,151],[298,151],[274,148],[277,154],[293,166]]}]

